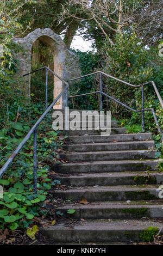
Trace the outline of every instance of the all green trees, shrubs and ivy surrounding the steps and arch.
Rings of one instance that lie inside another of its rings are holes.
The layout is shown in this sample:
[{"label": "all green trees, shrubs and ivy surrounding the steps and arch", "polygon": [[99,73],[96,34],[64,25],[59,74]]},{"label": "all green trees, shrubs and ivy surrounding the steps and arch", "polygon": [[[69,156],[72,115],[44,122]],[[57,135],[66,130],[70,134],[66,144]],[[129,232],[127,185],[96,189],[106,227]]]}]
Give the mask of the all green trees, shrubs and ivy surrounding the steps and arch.
[{"label": "all green trees, shrubs and ivy surrounding the steps and arch", "polygon": [[[29,101],[26,96],[26,84],[17,72],[19,62],[15,59],[15,54],[23,53],[23,49],[12,42],[15,36],[24,36],[38,27],[48,27],[57,34],[63,34],[67,47],[70,47],[73,36],[79,29],[80,35],[85,39],[94,40],[92,46],[97,50],[84,53],[74,51],[80,59],[83,75],[102,70],[132,84],[153,80],[163,97],[162,57],[158,55],[158,44],[161,42],[162,33],[160,1],[126,1],[125,3],[116,1],[115,5],[110,4],[109,1],[97,0],[92,4],[87,2],[80,0],[0,1],[0,44],[3,47],[3,55],[0,58],[1,167],[45,110],[45,72],[41,71],[39,76],[32,75],[30,92],[32,100]],[[149,28],[147,22],[151,24]],[[39,61],[33,61],[32,69],[40,68],[42,65],[53,67],[51,50],[40,43],[39,48],[33,47],[33,53],[38,52]],[[95,92],[99,88],[98,75],[85,77],[70,87],[70,94]],[[51,103],[53,77],[49,79],[48,89],[48,100]],[[141,109],[140,88],[133,89],[103,77],[103,92],[134,109]],[[99,95],[88,95],[74,98],[69,106],[77,109],[99,110],[99,105]],[[145,86],[145,108],[151,107],[155,109],[162,130],[162,108],[152,85],[148,85]],[[126,127],[127,133],[141,132],[141,114],[129,112],[105,97],[103,97],[103,110],[110,110],[112,118],[118,119],[118,125]],[[48,190],[59,184],[58,180],[52,181],[49,178],[49,167],[52,160],[58,161],[58,150],[61,149],[64,139],[64,135],[52,131],[51,125],[52,120],[47,117],[39,126],[37,195],[33,190],[33,137],[30,137],[0,179],[0,185],[4,189],[4,198],[0,201],[0,228],[3,230],[27,228],[35,217],[46,216],[48,213],[44,203]],[[145,130],[153,132],[158,149],[156,157],[161,158],[162,144],[151,112],[145,113]],[[161,162],[160,170],[162,168]],[[73,214],[73,211],[68,210],[68,214]],[[141,238],[151,241],[156,231],[153,228],[145,230]]]}]

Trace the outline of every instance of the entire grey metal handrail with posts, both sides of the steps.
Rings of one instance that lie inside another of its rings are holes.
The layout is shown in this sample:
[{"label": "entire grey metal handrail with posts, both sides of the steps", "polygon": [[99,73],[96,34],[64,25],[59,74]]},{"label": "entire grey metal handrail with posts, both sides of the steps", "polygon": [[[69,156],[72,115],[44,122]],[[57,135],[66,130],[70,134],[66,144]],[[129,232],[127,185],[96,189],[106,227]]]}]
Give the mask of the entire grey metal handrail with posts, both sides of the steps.
[{"label": "entire grey metal handrail with posts, both sides of the steps", "polygon": [[[34,134],[34,156],[33,156],[33,161],[34,161],[34,165],[33,165],[33,169],[34,169],[34,192],[37,193],[37,126],[39,126],[39,124],[41,123],[41,121],[43,120],[43,118],[45,118],[45,116],[47,115],[47,113],[52,109],[52,107],[55,105],[55,103],[60,99],[60,97],[62,96],[62,94],[64,94],[66,92],[66,107],[68,106],[68,87],[69,87],[69,84],[68,82],[66,82],[65,80],[63,80],[60,76],[58,76],[57,74],[55,74],[54,71],[52,71],[51,69],[49,69],[47,66],[43,66],[42,68],[40,69],[36,69],[32,72],[29,72],[28,74],[25,74],[23,76],[27,76],[27,75],[30,75],[30,74],[33,74],[34,72],[37,72],[37,71],[40,71],[42,69],[46,69],[46,111],[41,115],[41,117],[39,118],[39,120],[36,121],[35,125],[32,127],[32,129],[30,129],[30,131],[27,133],[26,137],[24,137],[23,141],[18,145],[18,147],[14,150],[14,152],[12,153],[12,155],[9,157],[9,159],[7,160],[7,162],[5,162],[4,166],[1,168],[0,170],[0,178],[1,176],[4,174],[5,170],[7,170],[7,168],[9,167],[10,163],[14,160],[14,158],[16,157],[16,155],[20,152],[20,150],[23,148],[24,144],[26,144],[26,142],[28,141],[28,139],[30,138],[30,136],[32,136],[32,134]],[[55,75],[56,77],[59,78],[59,80],[61,80],[63,83],[66,84],[66,87],[62,90],[62,92],[57,96],[57,98],[51,103],[51,105],[48,107],[48,95],[47,95],[47,86],[48,86],[48,71],[52,72],[53,75]],[[92,92],[92,93],[85,93],[85,94],[80,94],[80,95],[73,95],[73,96],[69,96],[70,98],[71,97],[78,97],[78,96],[84,96],[84,95],[89,95],[89,94],[95,94],[95,93],[100,93],[101,94],[101,110],[102,110],[102,95],[106,96],[106,97],[109,97],[111,100],[114,100],[115,102],[119,103],[120,105],[122,105],[123,107],[126,107],[127,109],[131,110],[131,111],[134,111],[134,112],[142,112],[142,130],[143,130],[143,112],[144,111],[152,111],[153,113],[153,117],[154,117],[154,120],[155,120],[155,123],[156,125],[158,126],[158,131],[161,135],[161,129],[160,129],[160,126],[158,124],[158,120],[156,118],[156,115],[155,115],[155,112],[154,112],[154,109],[153,108],[146,108],[144,109],[143,108],[143,100],[144,100],[144,94],[143,94],[143,86],[146,85],[146,84],[149,84],[149,83],[152,83],[153,84],[153,87],[155,89],[155,92],[159,98],[159,101],[161,103],[161,106],[163,108],[163,102],[162,102],[162,99],[161,99],[161,96],[158,92],[158,89],[156,88],[155,86],[155,83],[153,81],[150,81],[150,82],[147,82],[147,83],[144,83],[144,84],[139,84],[138,86],[134,86],[133,84],[130,84],[130,83],[127,83],[125,81],[122,81],[116,77],[113,77],[113,76],[110,76],[108,74],[105,74],[104,72],[102,71],[97,71],[97,72],[94,72],[94,73],[91,73],[91,74],[87,74],[87,75],[84,75],[84,76],[80,76],[80,77],[76,77],[76,78],[73,78],[71,80],[68,80],[68,81],[74,81],[74,80],[78,80],[79,78],[83,78],[83,77],[86,77],[86,76],[91,76],[91,75],[95,75],[95,74],[98,74],[100,73],[101,74],[101,90],[100,91],[97,91],[97,92]],[[114,99],[113,97],[109,96],[108,94],[105,94],[102,92],[102,75],[106,75],[110,78],[113,78],[119,82],[122,82],[124,84],[127,84],[131,87],[141,87],[142,86],[142,109],[139,109],[139,110],[135,110],[133,108],[130,108],[129,106],[125,105],[124,103],[122,103],[121,101],[118,101],[116,99]],[[67,109],[67,108],[66,108]],[[66,115],[66,127],[67,127],[67,115]]]}]

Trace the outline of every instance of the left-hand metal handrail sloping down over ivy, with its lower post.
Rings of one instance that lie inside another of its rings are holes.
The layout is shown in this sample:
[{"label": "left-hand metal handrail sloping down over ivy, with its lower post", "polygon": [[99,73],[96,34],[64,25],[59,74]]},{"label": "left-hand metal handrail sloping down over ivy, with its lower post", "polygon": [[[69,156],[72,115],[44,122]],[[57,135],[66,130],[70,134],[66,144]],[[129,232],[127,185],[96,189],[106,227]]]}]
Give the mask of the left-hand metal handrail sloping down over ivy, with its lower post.
[{"label": "left-hand metal handrail sloping down over ivy, with its lower post", "polygon": [[[51,69],[49,69],[48,67],[43,67],[41,69],[47,69],[49,71],[51,71],[55,76],[57,76],[63,83],[66,84],[66,87],[62,90],[62,92],[57,96],[57,98],[51,103],[51,105],[46,109],[46,111],[41,115],[41,117],[39,118],[39,120],[36,121],[36,123],[34,124],[34,126],[32,127],[32,129],[30,129],[30,131],[27,133],[26,137],[24,137],[23,141],[18,145],[18,147],[14,150],[14,152],[12,153],[12,155],[9,157],[9,159],[7,160],[7,162],[5,162],[4,166],[1,168],[0,170],[0,178],[1,176],[4,174],[5,170],[7,170],[7,168],[9,167],[10,163],[14,160],[14,158],[16,157],[16,155],[19,153],[19,151],[23,148],[24,144],[26,144],[26,142],[28,141],[28,139],[30,138],[30,136],[32,136],[32,134],[34,134],[34,156],[33,156],[33,161],[34,161],[34,165],[33,165],[33,169],[34,169],[34,192],[37,193],[37,126],[41,123],[41,121],[43,120],[43,118],[45,118],[45,116],[48,114],[48,112],[51,110],[51,108],[55,105],[55,103],[60,99],[60,97],[62,96],[62,94],[64,94],[66,92],[66,97],[68,97],[68,87],[69,84],[64,81],[60,76],[58,76],[57,74],[55,74],[55,72],[53,72]],[[41,70],[39,69],[39,70]],[[30,72],[29,74],[39,71],[39,70],[35,70]],[[26,74],[27,75],[27,74]],[[25,75],[24,75],[25,76]],[[66,101],[66,106],[67,106],[67,101]]]}]

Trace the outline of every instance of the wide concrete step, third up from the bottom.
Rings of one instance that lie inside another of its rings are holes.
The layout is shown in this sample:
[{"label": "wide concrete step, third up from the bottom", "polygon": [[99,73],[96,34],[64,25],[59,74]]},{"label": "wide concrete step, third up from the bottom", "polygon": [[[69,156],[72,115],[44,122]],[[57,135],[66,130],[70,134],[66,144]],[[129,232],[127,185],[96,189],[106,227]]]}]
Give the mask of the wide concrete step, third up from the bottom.
[{"label": "wide concrete step, third up from the bottom", "polygon": [[71,201],[84,198],[87,202],[154,200],[159,199],[158,187],[159,185],[73,187],[65,191],[54,190],[52,194]]}]

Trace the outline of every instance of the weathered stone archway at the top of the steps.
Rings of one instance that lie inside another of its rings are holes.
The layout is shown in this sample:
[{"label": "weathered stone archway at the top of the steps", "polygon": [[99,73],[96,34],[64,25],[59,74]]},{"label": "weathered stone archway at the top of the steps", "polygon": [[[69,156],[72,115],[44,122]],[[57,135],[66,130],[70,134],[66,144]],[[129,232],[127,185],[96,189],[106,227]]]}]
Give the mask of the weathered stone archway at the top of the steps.
[{"label": "weathered stone archway at the top of the steps", "polygon": [[[36,40],[43,42],[48,45],[54,57],[54,72],[62,77],[64,80],[69,80],[73,77],[80,76],[81,71],[79,68],[78,57],[67,49],[65,43],[62,41],[59,35],[55,34],[51,29],[37,28],[35,31],[29,33],[24,38],[13,39],[14,42],[23,46],[24,52],[17,54],[20,62],[20,74],[24,75],[30,72],[31,65],[31,52],[32,46]],[[30,95],[30,75],[24,77],[26,84],[26,94]],[[54,99],[61,93],[65,85],[54,76]],[[65,95],[58,100],[55,108],[64,108],[65,106]]]}]

